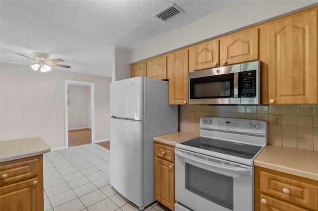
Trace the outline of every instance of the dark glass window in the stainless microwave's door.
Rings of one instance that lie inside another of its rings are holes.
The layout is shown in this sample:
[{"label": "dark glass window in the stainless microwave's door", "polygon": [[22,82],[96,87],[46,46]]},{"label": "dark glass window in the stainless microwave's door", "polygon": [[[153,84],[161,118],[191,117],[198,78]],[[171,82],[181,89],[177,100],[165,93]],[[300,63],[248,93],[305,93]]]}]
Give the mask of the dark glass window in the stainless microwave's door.
[{"label": "dark glass window in the stainless microwave's door", "polygon": [[233,98],[234,73],[190,79],[191,99]]}]

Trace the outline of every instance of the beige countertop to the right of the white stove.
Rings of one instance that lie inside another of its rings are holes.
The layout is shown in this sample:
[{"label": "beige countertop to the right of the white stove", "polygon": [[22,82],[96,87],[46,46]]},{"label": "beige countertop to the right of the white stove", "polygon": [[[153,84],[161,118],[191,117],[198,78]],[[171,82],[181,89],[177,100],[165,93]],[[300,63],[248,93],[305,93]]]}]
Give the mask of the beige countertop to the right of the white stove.
[{"label": "beige countertop to the right of the white stove", "polygon": [[318,181],[318,153],[268,145],[254,165]]}]

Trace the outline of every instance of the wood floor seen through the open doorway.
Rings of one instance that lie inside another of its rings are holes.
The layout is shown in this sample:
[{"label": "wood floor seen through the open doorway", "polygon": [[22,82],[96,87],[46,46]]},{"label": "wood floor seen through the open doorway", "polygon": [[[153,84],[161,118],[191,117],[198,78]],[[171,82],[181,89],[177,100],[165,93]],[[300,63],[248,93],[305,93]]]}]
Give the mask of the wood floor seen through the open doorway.
[{"label": "wood floor seen through the open doorway", "polygon": [[91,129],[69,130],[69,147],[91,143]]}]

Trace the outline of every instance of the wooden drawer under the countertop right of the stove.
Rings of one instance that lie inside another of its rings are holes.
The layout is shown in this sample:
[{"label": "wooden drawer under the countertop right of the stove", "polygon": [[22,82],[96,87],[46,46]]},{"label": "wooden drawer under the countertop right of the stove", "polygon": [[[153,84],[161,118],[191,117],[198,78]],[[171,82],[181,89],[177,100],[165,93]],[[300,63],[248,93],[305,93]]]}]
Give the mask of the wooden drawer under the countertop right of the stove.
[{"label": "wooden drawer under the countertop right of the stove", "polygon": [[318,186],[260,171],[260,191],[295,205],[318,210]]}]

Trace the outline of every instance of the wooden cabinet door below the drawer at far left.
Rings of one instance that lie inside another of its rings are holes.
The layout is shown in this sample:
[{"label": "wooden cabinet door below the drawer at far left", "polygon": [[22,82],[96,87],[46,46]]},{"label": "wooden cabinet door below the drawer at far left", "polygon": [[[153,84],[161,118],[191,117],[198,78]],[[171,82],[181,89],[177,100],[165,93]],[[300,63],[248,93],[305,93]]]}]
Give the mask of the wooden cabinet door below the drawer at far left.
[{"label": "wooden cabinet door below the drawer at far left", "polygon": [[[35,182],[36,181],[36,182]],[[38,211],[39,200],[38,178],[6,185],[0,188],[0,211]],[[43,210],[43,208],[42,208]]]}]

